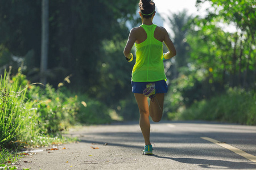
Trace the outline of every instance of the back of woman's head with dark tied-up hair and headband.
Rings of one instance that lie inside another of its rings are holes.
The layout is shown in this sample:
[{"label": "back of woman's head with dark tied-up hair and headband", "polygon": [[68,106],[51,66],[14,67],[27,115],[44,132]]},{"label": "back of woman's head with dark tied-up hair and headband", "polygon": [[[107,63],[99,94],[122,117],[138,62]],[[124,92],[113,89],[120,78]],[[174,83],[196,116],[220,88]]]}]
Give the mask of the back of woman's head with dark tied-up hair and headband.
[{"label": "back of woman's head with dark tied-up hair and headband", "polygon": [[152,14],[155,12],[155,3],[152,0],[140,0],[139,10],[143,18],[151,18]]}]

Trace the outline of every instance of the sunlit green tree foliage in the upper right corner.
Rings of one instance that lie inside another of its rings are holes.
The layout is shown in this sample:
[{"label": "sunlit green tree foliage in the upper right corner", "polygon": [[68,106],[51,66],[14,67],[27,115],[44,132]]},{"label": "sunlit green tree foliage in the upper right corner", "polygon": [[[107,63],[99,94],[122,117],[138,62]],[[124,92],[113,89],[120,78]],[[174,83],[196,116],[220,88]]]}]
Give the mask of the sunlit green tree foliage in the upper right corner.
[{"label": "sunlit green tree foliage in the upper right corner", "polygon": [[[231,87],[251,88],[256,73],[254,1],[210,2],[214,10],[204,19],[196,18],[192,24],[196,29],[188,40],[192,45],[191,59],[209,70],[212,82],[217,80],[222,86],[229,83]],[[200,3],[202,1],[197,1]],[[224,29],[232,25],[233,32]]]}]

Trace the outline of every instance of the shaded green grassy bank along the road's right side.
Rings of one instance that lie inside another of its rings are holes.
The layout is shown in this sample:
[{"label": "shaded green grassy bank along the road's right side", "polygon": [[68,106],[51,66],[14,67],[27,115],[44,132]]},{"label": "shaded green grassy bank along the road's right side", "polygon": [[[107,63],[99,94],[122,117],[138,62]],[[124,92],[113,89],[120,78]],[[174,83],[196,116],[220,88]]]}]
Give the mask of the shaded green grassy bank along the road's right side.
[{"label": "shaded green grassy bank along the road's right side", "polygon": [[179,120],[207,120],[256,125],[256,94],[238,88],[194,103],[180,112]]}]

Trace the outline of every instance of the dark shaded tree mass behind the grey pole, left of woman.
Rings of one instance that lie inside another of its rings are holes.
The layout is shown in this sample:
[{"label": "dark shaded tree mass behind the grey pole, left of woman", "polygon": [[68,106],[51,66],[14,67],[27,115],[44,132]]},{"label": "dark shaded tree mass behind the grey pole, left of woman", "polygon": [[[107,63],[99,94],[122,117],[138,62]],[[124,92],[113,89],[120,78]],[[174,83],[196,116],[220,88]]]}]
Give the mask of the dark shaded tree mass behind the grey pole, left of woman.
[{"label": "dark shaded tree mass behind the grey pole, left of woman", "polygon": [[[0,45],[15,56],[23,56],[27,66],[23,73],[32,82],[38,82],[40,76],[40,2],[0,2]],[[126,23],[137,23],[137,6],[135,0],[50,1],[48,82],[56,87],[72,74],[74,84],[83,84],[79,90],[90,93],[90,87],[97,86],[100,77],[108,76],[97,69],[105,58],[102,42],[112,41],[113,37],[118,37],[116,42],[127,39]],[[31,50],[32,58],[27,55]],[[122,50],[123,46],[118,48],[116,56],[123,56]]]}]

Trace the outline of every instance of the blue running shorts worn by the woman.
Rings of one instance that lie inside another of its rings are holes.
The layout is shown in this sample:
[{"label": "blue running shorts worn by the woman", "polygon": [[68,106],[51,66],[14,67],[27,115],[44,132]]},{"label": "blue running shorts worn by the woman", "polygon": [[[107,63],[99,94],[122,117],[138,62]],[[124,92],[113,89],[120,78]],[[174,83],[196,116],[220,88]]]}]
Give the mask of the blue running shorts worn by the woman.
[{"label": "blue running shorts worn by the woman", "polygon": [[155,83],[156,94],[165,94],[168,91],[166,80],[157,82],[131,82],[131,91],[135,94],[143,94],[143,90],[146,88],[147,83]]}]

